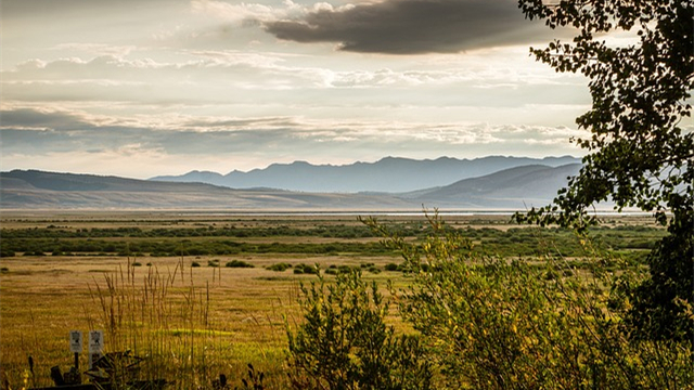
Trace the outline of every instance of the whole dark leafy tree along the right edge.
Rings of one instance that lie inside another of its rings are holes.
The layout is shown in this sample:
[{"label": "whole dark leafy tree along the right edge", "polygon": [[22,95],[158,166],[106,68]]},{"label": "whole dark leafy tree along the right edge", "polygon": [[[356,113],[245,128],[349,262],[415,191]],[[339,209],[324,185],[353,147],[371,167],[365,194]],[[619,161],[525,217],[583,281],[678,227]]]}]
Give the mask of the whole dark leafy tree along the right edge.
[{"label": "whole dark leafy tree along the right edge", "polygon": [[[651,278],[634,290],[630,321],[646,337],[694,337],[694,0],[518,0],[527,18],[550,28],[574,28],[571,42],[530,49],[556,72],[590,79],[592,108],[576,119],[590,136],[574,139],[589,153],[553,204],[518,221],[558,223],[581,231],[595,222],[588,210],[612,200],[638,207],[668,225],[648,257]],[[616,47],[605,34],[633,34]],[[689,315],[687,315],[689,311]]]}]

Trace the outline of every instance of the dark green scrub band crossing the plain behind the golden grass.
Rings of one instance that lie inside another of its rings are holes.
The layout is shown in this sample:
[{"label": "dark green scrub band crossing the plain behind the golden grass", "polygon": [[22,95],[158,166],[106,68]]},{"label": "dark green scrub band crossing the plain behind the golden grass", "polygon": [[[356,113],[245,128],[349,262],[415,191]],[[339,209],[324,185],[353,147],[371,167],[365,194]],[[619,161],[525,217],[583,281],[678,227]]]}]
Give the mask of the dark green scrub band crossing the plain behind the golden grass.
[{"label": "dark green scrub band crossing the plain behind the golden grass", "polygon": [[[502,225],[503,226],[503,225]],[[553,250],[563,256],[582,255],[575,234],[565,229],[534,227],[455,227],[475,243],[479,252],[504,257],[527,257]],[[425,231],[421,222],[394,225],[394,234],[422,239]],[[596,226],[591,230],[595,242],[604,249],[640,260],[656,239],[665,235],[663,229],[621,225]],[[2,229],[2,257],[17,253],[28,256],[222,256],[241,253],[359,253],[362,256],[397,256],[384,248],[372,232],[359,225],[325,225],[312,229],[292,226],[271,227],[170,227],[170,229]],[[246,238],[277,238],[277,242],[255,242]],[[287,237],[333,238],[331,242],[292,240]],[[549,244],[551,243],[551,244]],[[550,247],[545,247],[550,245]]]}]

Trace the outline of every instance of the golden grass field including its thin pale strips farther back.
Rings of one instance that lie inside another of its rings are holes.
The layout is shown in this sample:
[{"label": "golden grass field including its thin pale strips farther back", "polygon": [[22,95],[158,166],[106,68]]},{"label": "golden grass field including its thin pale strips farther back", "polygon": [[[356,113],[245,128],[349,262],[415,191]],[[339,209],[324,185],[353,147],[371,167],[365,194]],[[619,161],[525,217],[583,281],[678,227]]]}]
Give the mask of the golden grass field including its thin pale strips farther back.
[{"label": "golden grass field including its thin pale strips farther back", "polygon": [[[425,221],[425,216],[382,217],[385,222]],[[447,222],[458,226],[494,227],[510,225],[509,216],[452,216]],[[620,224],[640,224],[642,217],[619,219]],[[33,229],[49,225],[60,229],[137,226],[140,229],[195,227],[216,224],[273,226],[291,224],[311,227],[317,224],[361,224],[356,216],[223,216],[172,212],[4,212],[3,229]],[[192,238],[192,239],[205,239]],[[376,238],[358,238],[377,240]],[[248,237],[246,242],[334,240],[323,237]],[[208,266],[218,259],[219,268]],[[230,269],[223,264],[243,260],[255,268]],[[17,256],[2,258],[0,274],[0,377],[3,388],[50,386],[50,367],[63,372],[73,364],[68,332],[106,332],[106,351],[132,349],[140,355],[164,353],[174,366],[195,373],[196,386],[208,386],[220,373],[232,386],[245,376],[246,364],[266,375],[266,388],[283,388],[285,375],[285,318],[298,321],[298,286],[313,275],[295,275],[292,269],[275,272],[264,269],[278,262],[359,265],[373,262],[383,268],[397,258],[359,257],[354,253],[240,255],[166,257],[143,256]],[[193,261],[201,263],[192,268]],[[131,266],[139,262],[140,266]],[[364,273],[369,278],[402,282],[399,272]],[[146,298],[151,296],[152,298]],[[154,298],[157,296],[158,298]],[[111,310],[114,309],[114,312]],[[154,314],[153,314],[154,313]],[[156,318],[152,318],[154,315]],[[113,321],[121,321],[117,332],[108,333]],[[149,320],[147,320],[149,318]],[[112,338],[110,339],[110,335]],[[114,336],[118,335],[118,336]],[[154,347],[152,347],[154,344]],[[28,356],[35,366],[28,373]],[[189,359],[185,363],[181,360]],[[87,353],[80,355],[87,366]],[[163,370],[167,379],[176,374]],[[178,378],[178,388],[185,388]]]}]

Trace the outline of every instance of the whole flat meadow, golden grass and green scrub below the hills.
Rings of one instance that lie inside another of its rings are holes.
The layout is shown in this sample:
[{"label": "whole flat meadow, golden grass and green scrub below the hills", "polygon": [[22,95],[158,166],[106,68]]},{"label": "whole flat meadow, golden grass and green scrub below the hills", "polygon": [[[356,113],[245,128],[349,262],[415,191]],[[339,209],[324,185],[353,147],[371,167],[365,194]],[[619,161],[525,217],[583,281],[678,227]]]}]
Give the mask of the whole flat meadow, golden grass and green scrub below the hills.
[{"label": "whole flat meadow, golden grass and green scrub below the hills", "polygon": [[[377,218],[407,242],[425,238],[423,214]],[[554,253],[588,266],[570,231],[518,226],[510,216],[445,220],[480,253],[538,264]],[[285,388],[285,324],[301,322],[299,286],[316,280],[316,264],[326,277],[359,269],[383,286],[409,283],[401,255],[354,214],[3,212],[1,223],[3,388],[52,385],[50,368],[73,364],[73,329],[103,329],[106,351],[132,350],[147,359],[145,377],[177,388],[210,388],[219,374],[242,387],[248,363],[265,388]],[[640,216],[606,218],[591,232],[638,270],[663,235]]]}]

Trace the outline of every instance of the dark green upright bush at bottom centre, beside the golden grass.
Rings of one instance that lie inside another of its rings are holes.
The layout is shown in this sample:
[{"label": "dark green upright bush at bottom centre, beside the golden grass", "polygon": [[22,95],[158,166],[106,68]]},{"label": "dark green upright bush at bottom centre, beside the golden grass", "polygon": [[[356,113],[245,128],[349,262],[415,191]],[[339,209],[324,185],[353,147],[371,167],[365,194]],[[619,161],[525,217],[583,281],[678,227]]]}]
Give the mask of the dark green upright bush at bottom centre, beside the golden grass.
[{"label": "dark green upright bush at bottom centre, beside the golden grass", "polygon": [[304,321],[287,323],[290,381],[295,389],[428,389],[430,365],[415,336],[385,324],[388,303],[359,271],[301,285]]}]

